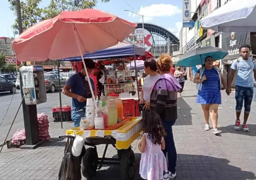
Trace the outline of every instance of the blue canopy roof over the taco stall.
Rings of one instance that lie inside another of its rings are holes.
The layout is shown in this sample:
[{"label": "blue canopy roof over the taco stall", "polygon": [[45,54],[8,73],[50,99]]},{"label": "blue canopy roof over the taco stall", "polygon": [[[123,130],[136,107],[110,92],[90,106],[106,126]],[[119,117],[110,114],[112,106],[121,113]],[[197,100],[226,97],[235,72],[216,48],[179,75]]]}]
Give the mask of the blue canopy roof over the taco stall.
[{"label": "blue canopy roof over the taco stall", "polygon": [[[102,49],[93,53],[86,53],[83,55],[85,59],[109,59],[112,57],[115,58],[120,58],[120,57],[129,57],[133,55],[138,55],[138,56],[145,56],[146,51],[145,48],[135,46],[132,44],[130,41],[123,41],[122,43],[119,42],[115,46],[111,46],[106,49]],[[62,59],[64,61],[80,61],[81,57],[70,57],[70,58],[65,58]]]}]

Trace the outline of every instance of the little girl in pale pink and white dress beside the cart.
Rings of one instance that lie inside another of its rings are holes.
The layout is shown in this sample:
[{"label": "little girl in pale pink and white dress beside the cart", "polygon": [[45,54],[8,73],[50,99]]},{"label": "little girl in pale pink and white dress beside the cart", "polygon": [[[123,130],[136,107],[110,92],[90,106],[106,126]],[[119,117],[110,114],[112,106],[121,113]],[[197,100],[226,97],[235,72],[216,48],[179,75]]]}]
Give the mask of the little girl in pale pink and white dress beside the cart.
[{"label": "little girl in pale pink and white dress beside the cart", "polygon": [[166,135],[161,124],[161,118],[155,112],[147,112],[144,120],[144,134],[138,148],[142,152],[139,174],[145,180],[166,180],[168,174],[166,158],[162,150],[165,149]]}]

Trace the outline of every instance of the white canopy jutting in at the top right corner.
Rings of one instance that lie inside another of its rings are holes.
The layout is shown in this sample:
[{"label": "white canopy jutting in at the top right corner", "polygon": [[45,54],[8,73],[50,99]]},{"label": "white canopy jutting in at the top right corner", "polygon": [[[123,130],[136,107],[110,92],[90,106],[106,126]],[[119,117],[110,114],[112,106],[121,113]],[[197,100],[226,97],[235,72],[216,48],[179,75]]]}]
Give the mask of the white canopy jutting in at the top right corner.
[{"label": "white canopy jutting in at the top right corner", "polygon": [[256,0],[231,0],[201,20],[203,29],[256,32]]}]

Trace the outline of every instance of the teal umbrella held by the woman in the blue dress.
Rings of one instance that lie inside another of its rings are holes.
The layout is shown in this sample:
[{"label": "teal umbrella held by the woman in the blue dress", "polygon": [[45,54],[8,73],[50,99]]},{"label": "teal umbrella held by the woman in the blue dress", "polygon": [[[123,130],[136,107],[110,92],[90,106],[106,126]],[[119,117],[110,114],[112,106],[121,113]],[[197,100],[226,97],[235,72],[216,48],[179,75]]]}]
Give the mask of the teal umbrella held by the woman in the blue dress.
[{"label": "teal umbrella held by the woman in the blue dress", "polygon": [[180,60],[178,61],[178,66],[190,67],[194,65],[204,64],[204,60],[206,57],[211,56],[213,60],[220,60],[227,55],[228,52],[225,52],[223,49],[213,47],[213,46],[205,46],[193,49],[189,52],[184,53]]}]

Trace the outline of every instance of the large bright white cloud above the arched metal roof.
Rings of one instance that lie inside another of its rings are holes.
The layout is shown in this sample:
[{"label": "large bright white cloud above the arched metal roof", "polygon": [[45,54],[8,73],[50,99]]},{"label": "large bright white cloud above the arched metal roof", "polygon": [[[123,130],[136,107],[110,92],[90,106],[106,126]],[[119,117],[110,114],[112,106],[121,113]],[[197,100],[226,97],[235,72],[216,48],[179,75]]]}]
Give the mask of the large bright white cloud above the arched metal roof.
[{"label": "large bright white cloud above the arched metal roof", "polygon": [[150,6],[141,7],[138,14],[147,17],[174,16],[180,14],[181,9],[171,4],[152,4]]}]

